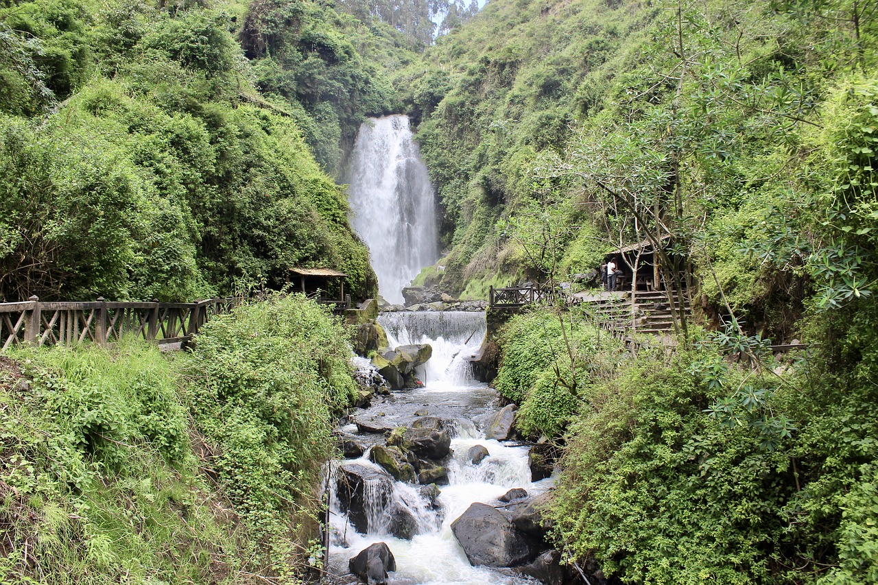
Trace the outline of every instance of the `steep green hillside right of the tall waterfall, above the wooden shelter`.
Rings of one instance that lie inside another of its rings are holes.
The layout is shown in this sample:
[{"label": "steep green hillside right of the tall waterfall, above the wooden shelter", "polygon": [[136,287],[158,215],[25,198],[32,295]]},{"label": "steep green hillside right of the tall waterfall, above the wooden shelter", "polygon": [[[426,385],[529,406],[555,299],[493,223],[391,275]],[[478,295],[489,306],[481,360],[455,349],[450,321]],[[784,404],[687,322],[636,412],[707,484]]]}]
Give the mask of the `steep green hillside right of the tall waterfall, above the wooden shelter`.
[{"label": "steep green hillside right of the tall waterfall, above the wooden shelter", "polygon": [[[443,272],[421,279],[482,296],[585,272],[664,230],[700,259],[709,303],[721,300],[705,258],[754,320],[772,320],[766,303],[801,307],[787,277],[800,261],[760,251],[796,228],[760,221],[823,225],[789,206],[831,189],[845,131],[833,112],[874,76],[874,34],[856,3],[488,4],[396,81],[445,213]],[[667,209],[663,227],[626,222],[629,204]],[[556,227],[551,250],[532,238],[541,223]]]}]

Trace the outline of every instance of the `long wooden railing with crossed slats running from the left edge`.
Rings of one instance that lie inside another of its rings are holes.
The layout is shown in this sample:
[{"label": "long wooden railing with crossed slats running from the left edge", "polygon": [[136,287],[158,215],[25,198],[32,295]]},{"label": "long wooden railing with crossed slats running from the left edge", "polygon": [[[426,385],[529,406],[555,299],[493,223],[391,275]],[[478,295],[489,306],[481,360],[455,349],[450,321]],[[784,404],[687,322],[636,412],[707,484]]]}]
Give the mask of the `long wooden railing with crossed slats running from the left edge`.
[{"label": "long wooden railing with crossed slats running from the left edge", "polygon": [[194,303],[43,302],[37,297],[0,303],[0,350],[15,343],[33,345],[115,343],[123,337],[157,343],[187,342],[213,315],[229,313],[241,297]]}]

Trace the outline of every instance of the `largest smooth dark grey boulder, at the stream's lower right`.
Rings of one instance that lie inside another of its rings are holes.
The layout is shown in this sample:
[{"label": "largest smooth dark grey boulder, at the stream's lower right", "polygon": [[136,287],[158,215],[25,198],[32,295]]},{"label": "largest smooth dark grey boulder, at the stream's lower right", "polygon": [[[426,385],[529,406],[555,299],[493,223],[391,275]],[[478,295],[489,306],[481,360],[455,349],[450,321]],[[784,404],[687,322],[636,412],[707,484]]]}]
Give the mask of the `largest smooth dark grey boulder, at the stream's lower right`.
[{"label": "largest smooth dark grey boulder, at the stream's lower right", "polygon": [[518,530],[509,518],[485,503],[472,504],[451,523],[471,565],[518,567],[536,559],[540,543]]}]

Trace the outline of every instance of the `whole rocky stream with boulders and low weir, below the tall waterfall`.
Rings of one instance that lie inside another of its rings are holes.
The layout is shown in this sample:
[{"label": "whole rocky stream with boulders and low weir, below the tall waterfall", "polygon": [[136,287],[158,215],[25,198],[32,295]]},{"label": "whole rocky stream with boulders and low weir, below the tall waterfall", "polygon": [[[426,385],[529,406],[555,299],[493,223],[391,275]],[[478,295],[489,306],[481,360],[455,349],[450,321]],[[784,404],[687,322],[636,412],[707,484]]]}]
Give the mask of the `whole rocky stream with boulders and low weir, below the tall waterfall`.
[{"label": "whole rocky stream with boulders and low weir, below the tall waterfall", "polygon": [[414,387],[393,391],[359,362],[378,392],[337,430],[347,459],[328,472],[328,566],[348,575],[331,582],[568,581],[543,538],[539,503],[552,478],[535,457],[541,445],[516,440],[515,407],[501,407],[472,376],[484,313],[389,313],[378,322],[392,348],[432,351],[415,366]]}]

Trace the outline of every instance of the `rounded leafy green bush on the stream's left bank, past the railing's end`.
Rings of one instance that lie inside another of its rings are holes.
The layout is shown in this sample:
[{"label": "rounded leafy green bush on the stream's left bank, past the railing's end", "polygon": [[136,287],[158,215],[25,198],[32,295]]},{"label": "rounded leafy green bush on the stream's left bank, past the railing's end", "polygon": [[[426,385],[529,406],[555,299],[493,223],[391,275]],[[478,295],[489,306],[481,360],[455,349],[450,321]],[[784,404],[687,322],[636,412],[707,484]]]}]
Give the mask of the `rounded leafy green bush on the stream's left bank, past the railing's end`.
[{"label": "rounded leafy green bush on the stream's left bank, past the railing's end", "polygon": [[183,366],[223,493],[280,574],[314,536],[333,415],[354,395],[347,337],[312,300],[275,296],[209,321]]}]

